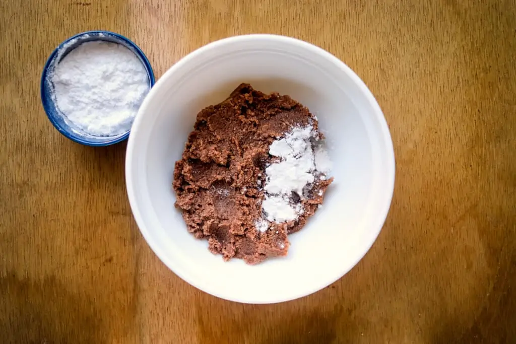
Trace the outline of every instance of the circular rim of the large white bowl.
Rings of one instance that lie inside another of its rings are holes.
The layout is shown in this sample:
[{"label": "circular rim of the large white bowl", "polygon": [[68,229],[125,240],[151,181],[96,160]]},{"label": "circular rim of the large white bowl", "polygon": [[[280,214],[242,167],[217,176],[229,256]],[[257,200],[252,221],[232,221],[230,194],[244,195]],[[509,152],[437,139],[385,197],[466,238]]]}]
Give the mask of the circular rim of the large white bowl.
[{"label": "circular rim of the large white bowl", "polygon": [[[378,120],[378,124],[380,125],[380,130],[384,136],[384,148],[385,148],[385,158],[386,162],[390,165],[388,166],[388,170],[385,171],[385,174],[388,178],[388,184],[385,186],[385,203],[382,204],[381,210],[378,212],[378,228],[373,228],[370,231],[370,242],[368,242],[367,245],[365,245],[362,249],[362,253],[357,256],[357,259],[353,261],[353,263],[350,265],[349,268],[344,267],[339,273],[338,276],[336,276],[333,279],[327,279],[324,281],[321,281],[319,284],[317,284],[317,287],[311,289],[311,290],[303,290],[301,292],[293,293],[292,295],[289,295],[289,297],[285,298],[273,298],[271,297],[267,301],[263,300],[253,300],[252,297],[247,298],[245,300],[238,299],[238,298],[232,298],[230,295],[224,294],[220,291],[213,291],[209,290],[209,288],[206,288],[205,285],[201,285],[200,283],[197,283],[196,280],[190,279],[182,269],[174,264],[171,263],[169,259],[166,258],[166,254],[162,252],[157,244],[157,239],[153,237],[151,234],[152,231],[149,231],[146,224],[143,221],[143,217],[140,213],[138,201],[137,199],[137,193],[135,189],[133,188],[133,176],[132,176],[132,167],[134,165],[133,160],[135,160],[133,151],[135,149],[135,146],[137,145],[136,139],[134,134],[138,132],[138,127],[141,122],[144,121],[142,117],[142,113],[147,110],[149,102],[153,98],[153,94],[158,92],[159,85],[165,83],[165,80],[170,78],[176,71],[180,70],[184,64],[188,63],[190,60],[195,59],[198,55],[204,54],[209,50],[212,50],[213,48],[223,46],[225,44],[234,44],[238,42],[245,42],[249,40],[254,39],[270,39],[275,40],[278,42],[288,43],[288,44],[295,44],[299,47],[308,49],[313,51],[314,53],[321,55],[325,57],[329,62],[337,64],[352,80],[353,83],[361,90],[361,92],[364,93],[365,97],[367,98],[368,102],[374,109],[375,118]],[[385,224],[385,220],[389,214],[390,207],[392,205],[392,199],[394,194],[394,182],[395,182],[395,155],[394,155],[394,146],[392,142],[392,137],[389,131],[388,123],[385,119],[385,116],[383,114],[383,111],[381,110],[377,100],[375,99],[373,93],[369,90],[369,88],[365,85],[364,81],[353,71],[351,70],[348,65],[346,65],[343,61],[332,55],[331,53],[327,52],[323,48],[316,46],[312,43],[305,42],[302,40],[299,40],[297,38],[288,37],[288,36],[281,36],[281,35],[270,35],[270,34],[250,34],[250,35],[240,35],[240,36],[233,36],[228,38],[223,38],[217,41],[213,41],[211,43],[208,43],[204,46],[201,46],[197,48],[195,51],[190,52],[186,56],[184,56],[182,59],[180,59],[178,62],[173,64],[164,74],[162,77],[159,78],[159,80],[156,83],[156,87],[154,87],[146,97],[146,99],[143,101],[142,105],[140,106],[140,109],[138,113],[136,114],[134,123],[133,123],[133,130],[132,135],[129,136],[128,143],[127,143],[127,149],[126,149],[126,156],[125,156],[125,177],[126,177],[126,189],[127,189],[127,195],[129,199],[129,203],[133,212],[133,217],[135,218],[136,224],[138,225],[138,228],[140,230],[140,233],[142,234],[143,238],[147,241],[149,247],[152,249],[152,251],[156,254],[156,256],[162,261],[163,264],[165,264],[174,274],[178,275],[183,281],[187,282],[188,284],[192,285],[193,287],[196,287],[199,290],[202,290],[208,294],[211,294],[215,297],[234,301],[234,302],[240,302],[240,303],[248,303],[248,304],[273,304],[273,303],[280,303],[280,302],[286,302],[291,301],[295,299],[299,299],[305,296],[309,296],[312,293],[315,293],[332,283],[340,280],[346,273],[348,273],[352,268],[354,268],[357,263],[369,252],[370,248],[378,238],[378,235],[380,234],[383,225]]]}]

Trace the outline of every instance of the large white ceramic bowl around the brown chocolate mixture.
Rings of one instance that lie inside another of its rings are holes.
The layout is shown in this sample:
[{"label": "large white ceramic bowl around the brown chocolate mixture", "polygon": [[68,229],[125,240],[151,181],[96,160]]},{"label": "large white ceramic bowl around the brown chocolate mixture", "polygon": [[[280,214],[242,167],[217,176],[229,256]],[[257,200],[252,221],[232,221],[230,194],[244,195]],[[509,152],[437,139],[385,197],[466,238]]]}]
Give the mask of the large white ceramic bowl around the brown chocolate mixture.
[{"label": "large white ceramic bowl around the brown chocolate mixture", "polygon": [[[289,94],[316,114],[335,177],[321,209],[289,236],[288,256],[256,266],[210,253],[187,232],[172,190],[196,114],[243,82]],[[140,231],[174,273],[223,299],[275,303],[326,287],[369,250],[391,204],[394,151],[376,100],[342,61],[293,38],[248,35],[199,48],[157,81],[134,121],[125,174]]]}]

